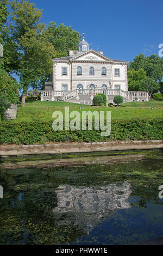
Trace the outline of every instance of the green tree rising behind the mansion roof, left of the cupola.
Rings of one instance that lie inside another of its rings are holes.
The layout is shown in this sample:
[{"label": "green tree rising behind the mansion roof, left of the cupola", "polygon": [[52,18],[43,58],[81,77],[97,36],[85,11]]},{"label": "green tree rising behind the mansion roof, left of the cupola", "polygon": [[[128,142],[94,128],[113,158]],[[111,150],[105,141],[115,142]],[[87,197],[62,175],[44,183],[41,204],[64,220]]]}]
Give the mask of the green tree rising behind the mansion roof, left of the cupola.
[{"label": "green tree rising behind the mansion roof, left of the cupola", "polygon": [[81,35],[70,26],[61,24],[57,27],[52,21],[47,26],[47,38],[57,51],[55,57],[59,58],[68,56],[69,50],[78,50]]}]

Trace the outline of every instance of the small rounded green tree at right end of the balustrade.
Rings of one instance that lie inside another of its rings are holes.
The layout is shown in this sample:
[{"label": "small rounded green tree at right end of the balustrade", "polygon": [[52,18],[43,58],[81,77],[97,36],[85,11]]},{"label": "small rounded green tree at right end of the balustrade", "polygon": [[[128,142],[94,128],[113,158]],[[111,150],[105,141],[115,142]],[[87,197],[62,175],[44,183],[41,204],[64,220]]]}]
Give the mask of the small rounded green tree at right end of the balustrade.
[{"label": "small rounded green tree at right end of the balustrade", "polygon": [[153,78],[147,77],[141,82],[142,89],[146,90],[149,94],[149,98],[151,97],[154,90],[159,89],[159,83],[155,82]]}]

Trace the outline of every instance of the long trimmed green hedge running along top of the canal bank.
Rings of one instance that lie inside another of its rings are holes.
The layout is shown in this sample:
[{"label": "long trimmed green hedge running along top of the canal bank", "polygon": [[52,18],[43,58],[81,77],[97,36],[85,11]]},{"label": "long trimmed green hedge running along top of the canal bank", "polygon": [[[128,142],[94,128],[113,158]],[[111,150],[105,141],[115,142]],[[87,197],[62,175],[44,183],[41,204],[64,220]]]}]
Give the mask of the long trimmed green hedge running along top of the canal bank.
[{"label": "long trimmed green hedge running along top of the canal bank", "polygon": [[29,123],[6,121],[0,126],[0,144],[45,144],[46,142],[102,142],[112,140],[162,139],[163,119],[112,120],[111,134],[101,136],[95,131],[54,131],[53,121],[35,120]]}]

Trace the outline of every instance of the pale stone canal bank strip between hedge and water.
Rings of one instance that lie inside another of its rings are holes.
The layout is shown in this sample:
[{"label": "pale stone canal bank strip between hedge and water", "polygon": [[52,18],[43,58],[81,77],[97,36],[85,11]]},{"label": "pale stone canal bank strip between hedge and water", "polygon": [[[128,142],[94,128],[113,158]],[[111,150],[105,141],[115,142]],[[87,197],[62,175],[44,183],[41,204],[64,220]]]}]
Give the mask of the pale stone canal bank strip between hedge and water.
[{"label": "pale stone canal bank strip between hedge and water", "polygon": [[144,149],[162,149],[163,140],[146,141],[111,141],[111,142],[92,142],[92,143],[51,143],[35,145],[1,145],[0,157],[26,155],[45,155],[52,154],[56,156],[73,155],[80,153],[98,153],[123,150],[144,150]]}]

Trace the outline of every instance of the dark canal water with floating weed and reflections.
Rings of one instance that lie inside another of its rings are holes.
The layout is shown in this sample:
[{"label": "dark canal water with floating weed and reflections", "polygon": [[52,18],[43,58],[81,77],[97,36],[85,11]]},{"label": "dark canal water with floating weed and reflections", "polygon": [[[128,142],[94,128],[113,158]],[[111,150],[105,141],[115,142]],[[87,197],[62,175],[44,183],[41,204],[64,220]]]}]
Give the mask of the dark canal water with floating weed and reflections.
[{"label": "dark canal water with floating weed and reflections", "polygon": [[161,150],[3,163],[0,244],[125,245],[163,236],[162,166]]}]

